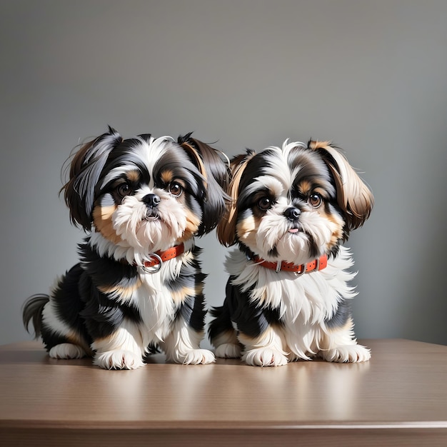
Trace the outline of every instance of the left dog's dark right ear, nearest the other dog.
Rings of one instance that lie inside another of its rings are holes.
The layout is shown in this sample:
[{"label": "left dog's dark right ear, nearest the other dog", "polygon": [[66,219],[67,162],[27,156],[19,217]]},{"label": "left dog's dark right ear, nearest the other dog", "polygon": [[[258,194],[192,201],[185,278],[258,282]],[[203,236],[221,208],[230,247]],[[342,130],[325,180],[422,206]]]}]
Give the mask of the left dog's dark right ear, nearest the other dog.
[{"label": "left dog's dark right ear, nearest the other dog", "polygon": [[191,134],[179,136],[177,142],[206,181],[206,191],[204,191],[203,197],[204,215],[196,233],[197,236],[202,236],[216,228],[226,211],[229,199],[225,192],[229,181],[228,166],[219,156],[219,151],[192,138]]}]

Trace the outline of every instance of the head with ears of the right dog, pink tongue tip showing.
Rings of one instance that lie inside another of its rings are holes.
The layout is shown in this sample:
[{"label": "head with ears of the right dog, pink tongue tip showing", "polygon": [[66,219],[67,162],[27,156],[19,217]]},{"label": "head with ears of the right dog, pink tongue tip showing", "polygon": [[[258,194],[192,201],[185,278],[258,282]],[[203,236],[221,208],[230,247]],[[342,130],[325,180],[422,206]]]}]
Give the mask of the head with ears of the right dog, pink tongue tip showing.
[{"label": "head with ears of the right dog, pink tongue tip showing", "polygon": [[288,143],[232,161],[233,206],[218,227],[225,245],[301,264],[336,254],[368,218],[373,196],[328,143]]}]

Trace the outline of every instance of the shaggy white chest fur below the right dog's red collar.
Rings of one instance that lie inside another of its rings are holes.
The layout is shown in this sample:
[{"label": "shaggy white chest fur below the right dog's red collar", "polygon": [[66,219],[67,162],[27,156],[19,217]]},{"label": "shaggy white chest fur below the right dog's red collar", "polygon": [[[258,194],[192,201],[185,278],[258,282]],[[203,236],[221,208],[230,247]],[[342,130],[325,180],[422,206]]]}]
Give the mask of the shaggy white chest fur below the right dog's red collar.
[{"label": "shaggy white chest fur below the right dog's red collar", "polygon": [[233,285],[248,292],[251,302],[278,309],[288,351],[300,358],[318,351],[318,341],[326,331],[325,322],[336,312],[338,303],[356,296],[348,284],[356,275],[348,271],[352,265],[351,254],[345,247],[328,261],[324,270],[302,276],[277,273],[253,264],[238,250],[226,261],[226,269],[234,277]]}]

